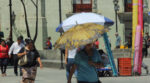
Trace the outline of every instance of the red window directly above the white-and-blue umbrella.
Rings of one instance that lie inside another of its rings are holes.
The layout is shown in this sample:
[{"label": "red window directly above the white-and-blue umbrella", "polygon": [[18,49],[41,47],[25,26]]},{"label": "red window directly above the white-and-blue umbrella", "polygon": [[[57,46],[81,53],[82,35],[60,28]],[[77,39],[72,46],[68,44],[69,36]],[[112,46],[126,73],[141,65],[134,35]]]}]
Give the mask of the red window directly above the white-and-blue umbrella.
[{"label": "red window directly above the white-and-blue umbrella", "polygon": [[73,0],[73,12],[92,12],[92,0]]}]

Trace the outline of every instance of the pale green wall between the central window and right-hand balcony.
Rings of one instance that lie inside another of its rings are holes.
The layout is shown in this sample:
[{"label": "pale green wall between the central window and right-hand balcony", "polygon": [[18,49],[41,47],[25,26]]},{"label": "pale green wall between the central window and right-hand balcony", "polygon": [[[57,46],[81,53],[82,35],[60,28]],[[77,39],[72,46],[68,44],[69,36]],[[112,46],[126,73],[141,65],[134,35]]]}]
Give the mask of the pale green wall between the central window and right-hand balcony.
[{"label": "pale green wall between the central window and right-hand balcony", "polygon": [[[98,13],[101,13],[105,17],[110,18],[115,22],[115,11],[114,11],[114,4],[113,0],[98,0]],[[122,8],[122,0],[119,0],[119,5],[120,5],[120,11],[123,10]],[[111,43],[112,43],[112,49],[115,48],[115,33],[116,33],[116,24],[114,23],[113,26],[110,27],[111,30],[108,32],[108,36],[110,37]],[[124,25],[120,24],[119,19],[118,19],[118,33],[121,36],[122,44],[124,43],[124,33],[123,33]],[[100,39],[100,48],[104,49],[104,42],[103,38]]]}]

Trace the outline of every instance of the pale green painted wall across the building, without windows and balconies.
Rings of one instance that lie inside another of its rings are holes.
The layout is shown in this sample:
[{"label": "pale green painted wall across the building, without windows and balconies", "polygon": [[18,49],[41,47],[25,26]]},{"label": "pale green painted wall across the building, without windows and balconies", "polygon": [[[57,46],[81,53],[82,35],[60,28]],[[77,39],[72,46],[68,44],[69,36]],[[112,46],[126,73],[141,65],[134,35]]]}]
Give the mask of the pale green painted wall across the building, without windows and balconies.
[{"label": "pale green painted wall across the building, without windows and balconies", "polygon": [[[9,35],[9,0],[0,0],[0,15],[1,15],[1,27],[2,31],[5,33],[5,38]],[[17,31],[20,32],[24,37],[26,37],[26,29],[24,23],[24,11],[20,0],[12,0],[13,2],[13,10],[16,14],[16,27]],[[45,38],[47,36],[52,37],[52,43],[54,44],[56,39],[60,36],[59,33],[55,32],[56,27],[59,25],[59,0],[44,0],[45,3],[42,3],[39,0],[39,31],[38,38],[36,41],[36,46],[38,49],[43,49],[43,43],[45,42]],[[123,3],[124,0],[119,0],[120,10],[119,12],[124,12]],[[150,2],[150,0],[148,0]],[[25,4],[27,7],[28,13],[28,21],[30,26],[30,32],[32,38],[35,34],[35,7],[31,3],[30,0],[25,0]],[[150,5],[150,4],[149,4]],[[41,6],[45,6],[45,11],[41,10]],[[93,9],[94,12],[100,13],[113,21],[115,21],[115,12],[114,12],[114,4],[113,0],[97,0],[97,9]],[[44,16],[42,15],[43,13]],[[72,2],[71,0],[62,0],[62,20],[65,20],[66,14],[72,13]],[[44,22],[44,24],[43,24]],[[45,30],[47,28],[47,30]],[[108,35],[111,39],[112,49],[115,47],[115,32],[116,27],[115,24],[110,27],[111,30],[108,32]],[[43,30],[44,29],[44,30]],[[124,44],[124,24],[121,24],[118,19],[118,33],[121,36],[122,44]],[[43,34],[44,33],[44,34]],[[44,37],[43,37],[44,36]],[[14,40],[16,40],[16,35],[14,34]],[[43,42],[44,41],[44,42]],[[103,39],[100,38],[100,48],[104,48]]]}]

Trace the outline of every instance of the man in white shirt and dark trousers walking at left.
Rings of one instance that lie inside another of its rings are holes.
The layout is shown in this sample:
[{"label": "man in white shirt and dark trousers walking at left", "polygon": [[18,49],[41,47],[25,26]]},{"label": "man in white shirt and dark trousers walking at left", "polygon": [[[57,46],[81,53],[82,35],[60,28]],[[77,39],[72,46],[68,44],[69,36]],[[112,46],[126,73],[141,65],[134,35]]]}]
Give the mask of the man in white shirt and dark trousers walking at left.
[{"label": "man in white shirt and dark trousers walking at left", "polygon": [[[21,43],[22,42],[22,38],[21,37],[18,37],[17,38],[17,42],[14,42],[12,44],[12,46],[10,47],[9,49],[9,56],[10,58],[13,57],[13,62],[14,62],[14,73],[16,76],[18,76],[18,52],[21,50],[21,48],[24,47],[24,44]],[[20,69],[20,76],[22,75],[22,72],[21,72],[21,69]]]}]

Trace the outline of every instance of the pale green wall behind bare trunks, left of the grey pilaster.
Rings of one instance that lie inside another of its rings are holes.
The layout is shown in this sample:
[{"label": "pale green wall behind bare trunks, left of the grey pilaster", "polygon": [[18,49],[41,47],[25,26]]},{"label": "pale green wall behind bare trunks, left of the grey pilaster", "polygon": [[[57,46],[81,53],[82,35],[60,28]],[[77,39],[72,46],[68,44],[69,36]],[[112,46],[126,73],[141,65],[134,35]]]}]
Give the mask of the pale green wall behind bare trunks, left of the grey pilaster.
[{"label": "pale green wall behind bare trunks, left of the grey pilaster", "polygon": [[[9,27],[10,27],[10,13],[9,13],[9,0],[0,0],[0,8],[1,8],[1,23],[2,23],[2,31],[4,32],[4,39],[9,37]],[[36,41],[36,46],[39,49],[42,49],[42,19],[41,19],[41,5],[40,5],[39,0],[39,31],[38,31],[38,37]],[[30,28],[30,33],[31,33],[31,38],[34,37],[35,34],[35,7],[32,4],[30,0],[25,0],[25,5],[27,9],[27,15],[28,15],[28,23],[29,23],[29,28]],[[16,20],[15,20],[15,27],[13,29],[16,29],[17,34],[21,33],[21,35],[24,36],[24,38],[27,38],[26,34],[26,26],[24,22],[24,11],[23,11],[23,6],[20,2],[20,0],[12,0],[12,10],[15,12],[16,15]],[[13,32],[13,40],[16,41],[18,35],[16,35]]]}]

